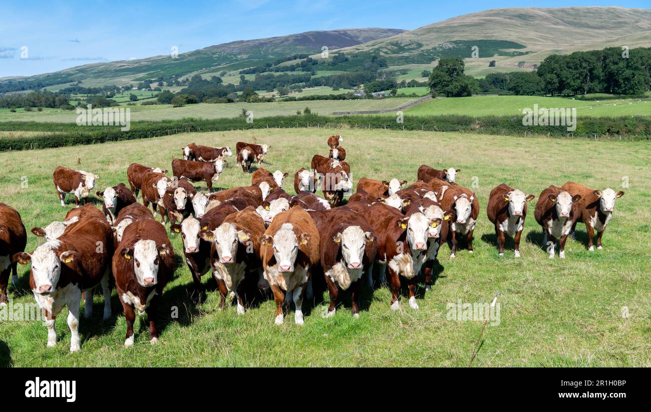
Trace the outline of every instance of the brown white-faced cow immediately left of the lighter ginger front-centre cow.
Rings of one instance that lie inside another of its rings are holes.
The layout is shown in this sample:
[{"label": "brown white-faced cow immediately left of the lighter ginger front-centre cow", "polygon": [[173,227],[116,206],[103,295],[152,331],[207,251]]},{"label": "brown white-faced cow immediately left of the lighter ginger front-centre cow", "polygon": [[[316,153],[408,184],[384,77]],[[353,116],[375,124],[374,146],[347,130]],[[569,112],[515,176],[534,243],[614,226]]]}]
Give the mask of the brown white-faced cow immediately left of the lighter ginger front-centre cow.
[{"label": "brown white-faced cow immediately left of the lighter ginger front-centre cow", "polygon": [[260,239],[264,231],[262,218],[251,206],[229,214],[214,231],[201,231],[201,238],[211,242],[210,264],[219,285],[221,309],[225,308],[227,294],[232,292],[238,315],[244,314],[242,281],[245,276],[255,274],[259,279],[262,275]]}]

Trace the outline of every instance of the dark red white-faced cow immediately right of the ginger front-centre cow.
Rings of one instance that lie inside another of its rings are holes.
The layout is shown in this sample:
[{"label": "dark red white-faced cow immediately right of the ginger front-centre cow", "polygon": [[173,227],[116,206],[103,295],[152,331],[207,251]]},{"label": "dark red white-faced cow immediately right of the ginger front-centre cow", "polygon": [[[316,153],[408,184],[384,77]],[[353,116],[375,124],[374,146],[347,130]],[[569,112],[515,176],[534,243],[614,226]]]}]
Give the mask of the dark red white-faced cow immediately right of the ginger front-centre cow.
[{"label": "dark red white-faced cow immediately right of the ginger front-centre cow", "polygon": [[330,294],[326,316],[335,315],[339,290],[350,289],[352,315],[358,317],[359,283],[378,251],[375,233],[364,216],[348,207],[319,213],[322,218],[315,222],[320,233],[321,266]]}]

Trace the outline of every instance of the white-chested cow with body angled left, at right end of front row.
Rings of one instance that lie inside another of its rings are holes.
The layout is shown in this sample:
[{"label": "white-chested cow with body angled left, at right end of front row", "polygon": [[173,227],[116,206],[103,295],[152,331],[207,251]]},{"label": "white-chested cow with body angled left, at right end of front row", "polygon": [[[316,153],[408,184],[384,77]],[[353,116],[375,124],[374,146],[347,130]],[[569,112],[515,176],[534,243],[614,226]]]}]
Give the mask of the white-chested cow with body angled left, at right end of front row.
[{"label": "white-chested cow with body angled left, at right end of front row", "polygon": [[[400,276],[408,281],[409,307],[418,309],[417,274],[427,250],[428,227],[432,222],[420,211],[404,216],[397,209],[382,203],[370,205],[364,215],[378,239],[376,263],[380,266],[381,281],[389,267],[391,309],[399,308]],[[372,270],[368,271],[368,276],[372,276]]]}]

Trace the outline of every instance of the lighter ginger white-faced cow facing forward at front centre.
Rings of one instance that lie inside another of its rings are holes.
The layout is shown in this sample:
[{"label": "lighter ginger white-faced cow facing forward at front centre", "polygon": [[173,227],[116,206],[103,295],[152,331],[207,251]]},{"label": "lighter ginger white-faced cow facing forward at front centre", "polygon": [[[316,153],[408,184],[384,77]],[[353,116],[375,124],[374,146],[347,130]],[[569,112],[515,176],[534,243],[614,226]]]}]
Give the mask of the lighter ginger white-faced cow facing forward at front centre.
[{"label": "lighter ginger white-faced cow facing forward at front centre", "polygon": [[319,262],[319,233],[301,207],[278,214],[260,238],[264,278],[276,302],[275,324],[283,323],[284,292],[291,294],[294,322],[303,325],[303,296],[311,269]]}]

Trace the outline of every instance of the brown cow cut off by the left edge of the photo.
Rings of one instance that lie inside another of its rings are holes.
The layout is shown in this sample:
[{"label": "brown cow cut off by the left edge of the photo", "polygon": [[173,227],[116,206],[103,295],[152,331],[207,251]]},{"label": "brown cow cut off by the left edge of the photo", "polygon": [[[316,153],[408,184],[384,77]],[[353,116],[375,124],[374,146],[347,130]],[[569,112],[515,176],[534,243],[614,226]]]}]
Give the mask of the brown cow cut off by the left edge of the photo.
[{"label": "brown cow cut off by the left edge of the photo", "polygon": [[0,203],[0,305],[7,304],[9,274],[11,283],[18,287],[18,270],[14,255],[25,251],[27,233],[20,213],[13,207]]}]

